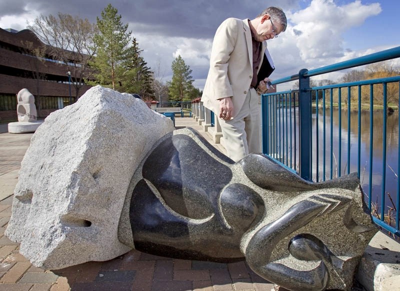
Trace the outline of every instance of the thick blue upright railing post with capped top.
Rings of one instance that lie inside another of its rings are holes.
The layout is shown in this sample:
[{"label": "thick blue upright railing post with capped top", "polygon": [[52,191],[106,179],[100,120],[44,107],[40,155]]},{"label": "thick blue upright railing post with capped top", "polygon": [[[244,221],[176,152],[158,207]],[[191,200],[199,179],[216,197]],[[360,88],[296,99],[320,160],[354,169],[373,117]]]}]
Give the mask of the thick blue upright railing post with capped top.
[{"label": "thick blue upright railing post with capped top", "polygon": [[302,69],[298,72],[299,92],[299,153],[300,176],[311,181],[311,92],[309,91],[308,72]]}]

